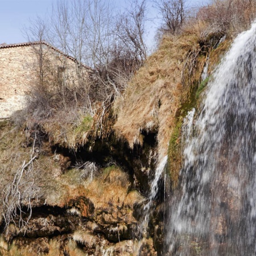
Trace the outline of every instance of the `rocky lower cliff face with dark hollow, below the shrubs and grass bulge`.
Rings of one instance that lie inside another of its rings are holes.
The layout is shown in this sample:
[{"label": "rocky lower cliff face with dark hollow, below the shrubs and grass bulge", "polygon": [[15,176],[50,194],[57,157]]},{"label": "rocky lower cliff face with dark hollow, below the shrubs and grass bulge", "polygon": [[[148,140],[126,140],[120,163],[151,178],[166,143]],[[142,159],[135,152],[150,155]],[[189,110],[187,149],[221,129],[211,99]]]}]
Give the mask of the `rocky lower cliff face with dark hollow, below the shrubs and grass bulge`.
[{"label": "rocky lower cliff face with dark hollow, below the shrubs and grass bulge", "polygon": [[1,254],[155,255],[138,232],[155,146],[131,150],[112,134],[69,152],[2,121]]}]

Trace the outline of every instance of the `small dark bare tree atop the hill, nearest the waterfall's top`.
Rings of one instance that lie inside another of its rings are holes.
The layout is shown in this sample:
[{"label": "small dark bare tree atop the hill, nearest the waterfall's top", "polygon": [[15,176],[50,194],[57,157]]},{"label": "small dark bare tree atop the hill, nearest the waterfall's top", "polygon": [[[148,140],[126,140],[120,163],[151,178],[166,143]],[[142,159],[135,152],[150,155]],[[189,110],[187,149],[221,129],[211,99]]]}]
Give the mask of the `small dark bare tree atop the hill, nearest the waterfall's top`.
[{"label": "small dark bare tree atop the hill, nearest the waterfall's top", "polygon": [[163,32],[176,34],[184,23],[186,0],[154,1],[163,19]]}]

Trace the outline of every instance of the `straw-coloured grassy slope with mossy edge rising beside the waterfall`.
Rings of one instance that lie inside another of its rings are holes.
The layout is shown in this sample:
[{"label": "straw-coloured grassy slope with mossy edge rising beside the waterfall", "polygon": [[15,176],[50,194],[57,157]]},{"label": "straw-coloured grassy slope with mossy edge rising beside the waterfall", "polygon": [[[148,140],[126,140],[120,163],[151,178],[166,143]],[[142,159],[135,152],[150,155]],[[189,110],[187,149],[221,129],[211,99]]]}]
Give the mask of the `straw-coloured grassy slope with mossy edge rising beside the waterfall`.
[{"label": "straw-coloured grassy slope with mossy edge rising beside the waterfall", "polygon": [[[179,144],[183,118],[188,110],[197,107],[210,73],[234,36],[250,26],[255,4],[253,1],[213,1],[188,19],[179,33],[166,32],[158,51],[148,57],[115,105],[118,118],[114,129],[118,136],[125,137],[133,148],[135,144],[143,144],[143,131],[155,133],[160,159],[168,151],[175,184],[181,163]],[[202,81],[201,74],[207,63],[207,80]]]}]

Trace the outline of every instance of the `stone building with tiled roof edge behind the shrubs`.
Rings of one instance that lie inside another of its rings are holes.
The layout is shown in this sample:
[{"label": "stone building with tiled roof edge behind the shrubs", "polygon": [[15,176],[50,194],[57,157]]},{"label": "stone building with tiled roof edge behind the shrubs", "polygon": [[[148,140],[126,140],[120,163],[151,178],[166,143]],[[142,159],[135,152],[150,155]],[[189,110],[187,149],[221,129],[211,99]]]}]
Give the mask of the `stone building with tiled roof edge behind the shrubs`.
[{"label": "stone building with tiled roof edge behind the shrubs", "polygon": [[[24,108],[26,94],[42,80],[77,86],[89,68],[46,42],[0,44],[0,119]],[[53,88],[54,89],[54,88]]]}]

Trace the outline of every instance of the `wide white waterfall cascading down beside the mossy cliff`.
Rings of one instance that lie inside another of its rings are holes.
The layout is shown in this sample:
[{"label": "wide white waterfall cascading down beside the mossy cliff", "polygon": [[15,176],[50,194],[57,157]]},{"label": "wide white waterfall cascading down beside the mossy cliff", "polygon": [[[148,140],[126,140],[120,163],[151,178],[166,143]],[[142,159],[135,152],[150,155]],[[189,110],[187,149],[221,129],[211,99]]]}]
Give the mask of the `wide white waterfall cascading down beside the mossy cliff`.
[{"label": "wide white waterfall cascading down beside the mossy cliff", "polygon": [[256,255],[256,23],[209,81],[171,197],[164,255]]}]

